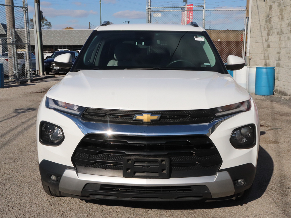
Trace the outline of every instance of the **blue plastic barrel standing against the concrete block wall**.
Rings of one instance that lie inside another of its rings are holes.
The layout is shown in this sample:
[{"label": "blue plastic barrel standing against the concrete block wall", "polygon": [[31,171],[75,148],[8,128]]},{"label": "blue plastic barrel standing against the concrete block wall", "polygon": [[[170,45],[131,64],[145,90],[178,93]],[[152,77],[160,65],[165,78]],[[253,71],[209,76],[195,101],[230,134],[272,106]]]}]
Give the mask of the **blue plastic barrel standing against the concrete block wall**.
[{"label": "blue plastic barrel standing against the concrete block wall", "polygon": [[275,88],[275,67],[256,68],[256,95],[273,95]]}]

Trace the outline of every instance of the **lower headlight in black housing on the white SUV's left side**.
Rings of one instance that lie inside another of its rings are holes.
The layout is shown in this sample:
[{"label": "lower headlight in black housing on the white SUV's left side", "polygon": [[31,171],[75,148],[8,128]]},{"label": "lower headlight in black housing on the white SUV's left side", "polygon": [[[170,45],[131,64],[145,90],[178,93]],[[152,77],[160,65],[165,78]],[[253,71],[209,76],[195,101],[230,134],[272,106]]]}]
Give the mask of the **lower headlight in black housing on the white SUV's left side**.
[{"label": "lower headlight in black housing on the white SUV's left side", "polygon": [[58,146],[65,136],[61,127],[42,121],[39,125],[39,139],[44,144]]}]

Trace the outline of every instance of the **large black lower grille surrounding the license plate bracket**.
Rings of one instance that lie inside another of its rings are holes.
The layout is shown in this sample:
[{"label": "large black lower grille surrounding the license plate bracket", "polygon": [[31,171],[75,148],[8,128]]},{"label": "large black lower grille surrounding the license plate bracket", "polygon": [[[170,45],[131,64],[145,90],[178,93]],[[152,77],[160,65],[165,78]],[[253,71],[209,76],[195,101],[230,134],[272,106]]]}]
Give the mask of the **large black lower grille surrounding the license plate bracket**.
[{"label": "large black lower grille surrounding the license plate bracket", "polygon": [[222,164],[218,150],[205,135],[88,134],[72,161],[79,173],[122,177],[124,157],[169,158],[171,178],[215,175]]}]

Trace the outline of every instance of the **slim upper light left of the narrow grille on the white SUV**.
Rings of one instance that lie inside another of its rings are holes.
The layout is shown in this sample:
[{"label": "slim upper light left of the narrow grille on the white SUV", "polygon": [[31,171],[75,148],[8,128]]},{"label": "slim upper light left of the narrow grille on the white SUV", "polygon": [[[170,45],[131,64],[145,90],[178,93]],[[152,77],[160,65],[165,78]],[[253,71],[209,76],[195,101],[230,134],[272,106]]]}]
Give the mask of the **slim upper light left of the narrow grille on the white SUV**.
[{"label": "slim upper light left of the narrow grille on the white SUV", "polygon": [[78,116],[80,116],[86,109],[85,107],[58,101],[49,97],[46,97],[45,107]]}]

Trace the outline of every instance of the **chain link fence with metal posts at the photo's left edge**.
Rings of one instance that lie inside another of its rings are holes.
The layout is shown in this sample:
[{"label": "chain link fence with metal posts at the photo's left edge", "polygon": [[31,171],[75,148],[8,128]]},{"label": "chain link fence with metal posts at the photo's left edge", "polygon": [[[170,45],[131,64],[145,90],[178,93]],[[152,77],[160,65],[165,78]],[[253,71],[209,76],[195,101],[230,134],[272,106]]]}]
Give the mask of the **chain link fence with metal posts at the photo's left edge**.
[{"label": "chain link fence with metal posts at the photo's left edge", "polygon": [[30,52],[28,8],[11,5],[13,1],[0,4],[0,63],[3,63],[4,82],[25,81],[35,71],[35,55]]}]

